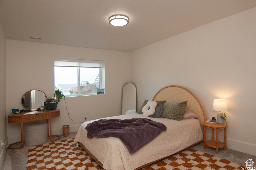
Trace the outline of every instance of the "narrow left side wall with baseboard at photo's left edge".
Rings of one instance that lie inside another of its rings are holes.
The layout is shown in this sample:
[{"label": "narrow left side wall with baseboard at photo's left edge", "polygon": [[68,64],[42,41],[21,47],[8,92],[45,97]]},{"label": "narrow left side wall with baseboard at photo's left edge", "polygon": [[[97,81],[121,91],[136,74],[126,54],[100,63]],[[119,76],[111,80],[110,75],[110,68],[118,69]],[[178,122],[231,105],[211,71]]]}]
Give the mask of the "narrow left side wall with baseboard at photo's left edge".
[{"label": "narrow left side wall with baseboard at photo's left edge", "polygon": [[[1,140],[7,143],[6,137],[6,79],[5,79],[5,46],[6,39],[0,23],[0,146]],[[0,149],[0,169],[2,167],[6,149]]]}]

